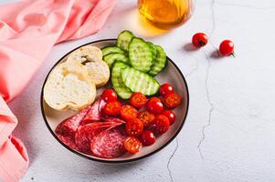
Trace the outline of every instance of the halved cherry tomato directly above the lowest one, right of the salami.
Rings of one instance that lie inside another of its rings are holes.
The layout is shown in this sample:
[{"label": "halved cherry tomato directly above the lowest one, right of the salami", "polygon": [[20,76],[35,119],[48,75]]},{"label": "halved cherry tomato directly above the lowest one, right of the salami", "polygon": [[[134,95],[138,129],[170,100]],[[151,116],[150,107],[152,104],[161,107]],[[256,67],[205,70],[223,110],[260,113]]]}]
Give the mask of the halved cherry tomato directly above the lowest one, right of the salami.
[{"label": "halved cherry tomato directly above the lowest one, right of the salami", "polygon": [[143,133],[143,122],[138,118],[132,118],[126,123],[128,136],[139,136]]}]

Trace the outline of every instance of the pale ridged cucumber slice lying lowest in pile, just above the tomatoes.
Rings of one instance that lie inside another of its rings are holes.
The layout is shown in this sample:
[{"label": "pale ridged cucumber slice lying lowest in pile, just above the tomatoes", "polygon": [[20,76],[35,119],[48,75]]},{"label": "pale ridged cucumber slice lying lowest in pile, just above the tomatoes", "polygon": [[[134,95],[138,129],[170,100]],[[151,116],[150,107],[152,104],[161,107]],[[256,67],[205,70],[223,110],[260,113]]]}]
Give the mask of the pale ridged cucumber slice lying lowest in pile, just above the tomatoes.
[{"label": "pale ridged cucumber slice lying lowest in pile, just above the tomatoes", "polygon": [[146,96],[155,95],[160,87],[153,76],[149,76],[132,67],[122,69],[122,81],[132,92],[141,92]]}]

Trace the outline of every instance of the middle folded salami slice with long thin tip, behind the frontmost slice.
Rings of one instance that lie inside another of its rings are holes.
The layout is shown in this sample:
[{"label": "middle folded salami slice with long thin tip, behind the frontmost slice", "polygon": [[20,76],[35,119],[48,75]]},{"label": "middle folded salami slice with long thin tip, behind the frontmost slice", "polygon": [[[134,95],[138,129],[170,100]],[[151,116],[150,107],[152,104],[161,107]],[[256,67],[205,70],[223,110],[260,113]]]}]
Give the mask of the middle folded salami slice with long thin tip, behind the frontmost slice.
[{"label": "middle folded salami slice with long thin tip, behind the frontmost slice", "polygon": [[79,126],[76,135],[75,143],[79,147],[79,151],[90,154],[90,141],[100,134],[100,132],[113,127],[119,126],[117,122],[93,122],[85,126]]}]

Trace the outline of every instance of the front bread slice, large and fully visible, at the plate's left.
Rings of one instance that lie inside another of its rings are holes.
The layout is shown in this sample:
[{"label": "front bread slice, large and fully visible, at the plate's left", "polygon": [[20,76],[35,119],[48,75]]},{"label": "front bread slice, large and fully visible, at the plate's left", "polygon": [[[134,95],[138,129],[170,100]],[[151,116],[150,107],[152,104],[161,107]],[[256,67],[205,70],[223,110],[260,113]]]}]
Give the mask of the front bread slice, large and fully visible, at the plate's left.
[{"label": "front bread slice, large and fully visible, at the plate's left", "polygon": [[57,110],[68,108],[81,110],[95,99],[96,86],[88,76],[88,70],[78,62],[56,66],[44,86],[44,99]]}]

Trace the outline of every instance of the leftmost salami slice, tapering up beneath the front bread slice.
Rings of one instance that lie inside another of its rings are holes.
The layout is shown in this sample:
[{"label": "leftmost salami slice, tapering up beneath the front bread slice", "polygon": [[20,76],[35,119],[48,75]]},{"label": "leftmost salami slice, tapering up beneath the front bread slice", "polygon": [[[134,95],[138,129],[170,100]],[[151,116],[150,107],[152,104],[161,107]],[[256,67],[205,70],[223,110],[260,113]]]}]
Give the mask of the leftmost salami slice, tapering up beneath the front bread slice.
[{"label": "leftmost salami slice, tapering up beneath the front bread slice", "polygon": [[90,110],[90,106],[84,108],[75,116],[70,116],[69,118],[62,121],[56,128],[56,134],[62,136],[74,136],[79,124],[84,116]]}]

